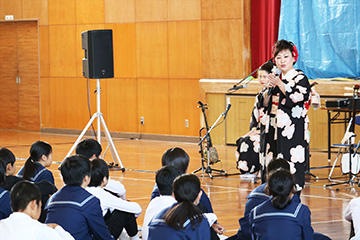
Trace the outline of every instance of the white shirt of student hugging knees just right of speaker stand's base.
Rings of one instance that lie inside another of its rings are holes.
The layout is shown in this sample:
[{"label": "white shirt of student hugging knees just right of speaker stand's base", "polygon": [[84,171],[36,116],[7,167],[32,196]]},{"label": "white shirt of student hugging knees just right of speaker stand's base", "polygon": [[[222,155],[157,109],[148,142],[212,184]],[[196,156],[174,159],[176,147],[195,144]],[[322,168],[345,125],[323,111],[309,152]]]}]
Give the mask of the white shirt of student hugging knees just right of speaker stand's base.
[{"label": "white shirt of student hugging knees just right of speaker stand's base", "polygon": [[135,217],[138,217],[142,211],[138,203],[116,197],[101,187],[86,187],[85,189],[100,200],[103,216],[105,216],[108,210],[112,212],[117,209],[119,211],[133,213]]}]

